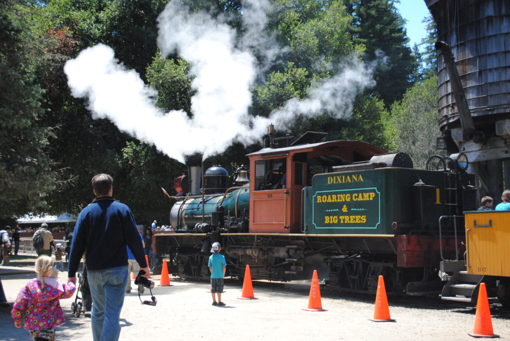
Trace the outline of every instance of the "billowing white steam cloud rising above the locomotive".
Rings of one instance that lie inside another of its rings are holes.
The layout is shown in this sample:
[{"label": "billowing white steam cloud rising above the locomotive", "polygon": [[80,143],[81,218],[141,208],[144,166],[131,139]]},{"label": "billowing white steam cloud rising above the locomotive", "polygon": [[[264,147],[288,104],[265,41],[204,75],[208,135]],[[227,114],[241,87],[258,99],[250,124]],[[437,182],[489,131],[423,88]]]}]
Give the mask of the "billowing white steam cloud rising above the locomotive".
[{"label": "billowing white steam cloud rising above the locomotive", "polygon": [[341,73],[311,89],[308,99],[291,99],[269,118],[248,115],[251,87],[257,72],[267,65],[258,65],[250,51],[256,50],[271,63],[279,56],[274,39],[264,35],[269,8],[266,0],[247,0],[243,12],[246,34],[240,41],[221,18],[191,13],[179,1],[170,2],[160,14],[162,53],[176,51],[191,65],[196,91],[191,99],[192,118],[183,111],[157,109],[153,103],[156,91],[120,64],[113,50],[103,44],[85,49],[66,63],[69,87],[73,96],[88,98],[94,118],[112,120],[123,132],[181,162],[184,155],[196,151],[207,157],[234,141],[258,141],[269,123],[280,128],[296,115],[312,117],[324,110],[337,117],[350,115],[356,92],[373,82],[370,69],[354,57]]}]

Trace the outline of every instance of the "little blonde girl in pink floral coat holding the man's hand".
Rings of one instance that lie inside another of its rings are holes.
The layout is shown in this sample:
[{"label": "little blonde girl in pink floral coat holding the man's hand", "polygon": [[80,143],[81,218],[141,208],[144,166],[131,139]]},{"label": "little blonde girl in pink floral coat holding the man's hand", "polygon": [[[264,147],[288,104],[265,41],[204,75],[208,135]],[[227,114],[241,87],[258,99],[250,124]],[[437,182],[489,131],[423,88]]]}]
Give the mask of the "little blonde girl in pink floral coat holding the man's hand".
[{"label": "little blonde girl in pink floral coat holding the man's hand", "polygon": [[36,340],[55,340],[55,327],[65,323],[59,300],[72,297],[76,287],[73,282],[63,284],[56,278],[54,261],[46,255],[36,259],[35,271],[37,278],[21,289],[11,315],[17,328],[23,319],[23,327]]}]

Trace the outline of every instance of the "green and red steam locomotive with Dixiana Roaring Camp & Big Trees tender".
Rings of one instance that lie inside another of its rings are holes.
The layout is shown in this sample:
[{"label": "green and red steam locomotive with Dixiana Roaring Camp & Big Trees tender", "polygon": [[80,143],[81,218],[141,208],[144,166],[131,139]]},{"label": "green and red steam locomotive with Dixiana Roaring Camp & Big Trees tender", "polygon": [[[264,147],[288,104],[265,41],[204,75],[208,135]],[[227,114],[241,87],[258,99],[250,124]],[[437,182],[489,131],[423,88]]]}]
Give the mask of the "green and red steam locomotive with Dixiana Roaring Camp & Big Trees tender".
[{"label": "green and red steam locomotive with Dixiana Roaring Camp & Big Trees tender", "polygon": [[307,133],[288,147],[248,154],[249,170],[238,168],[233,184],[219,166],[201,181],[199,155],[189,158],[188,174],[174,182],[188,193],[174,197],[176,232],[155,235],[169,273],[209,278],[210,246],[219,242],[227,276],[242,277],[246,265],[253,279],[275,281],[317,270],[341,291],[375,293],[383,275],[388,292],[441,292],[445,279],[465,269],[463,212],[476,203],[465,155],[432,156],[426,169],[415,169],[405,153],[321,137]]}]

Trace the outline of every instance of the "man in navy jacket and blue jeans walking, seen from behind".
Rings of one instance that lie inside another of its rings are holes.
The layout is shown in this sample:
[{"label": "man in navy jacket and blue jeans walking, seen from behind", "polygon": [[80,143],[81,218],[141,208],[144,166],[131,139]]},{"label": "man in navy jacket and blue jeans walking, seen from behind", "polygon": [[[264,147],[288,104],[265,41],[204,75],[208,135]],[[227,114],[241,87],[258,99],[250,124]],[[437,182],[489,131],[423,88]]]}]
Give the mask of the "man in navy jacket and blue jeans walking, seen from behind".
[{"label": "man in navy jacket and blue jeans walking, seen from behind", "polygon": [[112,185],[113,178],[108,174],[92,178],[96,198],[78,216],[69,256],[69,280],[76,282],[80,259],[86,253],[94,341],[119,339],[120,310],[130,280],[126,245],[145,271],[143,276],[150,275],[133,213],[112,197]]}]

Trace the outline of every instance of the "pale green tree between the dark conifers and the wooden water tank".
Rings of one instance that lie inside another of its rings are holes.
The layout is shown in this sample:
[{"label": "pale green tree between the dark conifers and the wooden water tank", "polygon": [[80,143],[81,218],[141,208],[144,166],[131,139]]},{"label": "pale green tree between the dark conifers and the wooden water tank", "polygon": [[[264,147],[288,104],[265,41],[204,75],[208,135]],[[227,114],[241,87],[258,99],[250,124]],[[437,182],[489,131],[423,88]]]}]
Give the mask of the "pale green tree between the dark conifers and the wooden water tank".
[{"label": "pale green tree between the dark conifers and the wooden water tank", "polygon": [[390,149],[409,153],[415,168],[425,167],[428,157],[437,153],[437,84],[437,77],[416,83],[384,119],[387,140],[393,141]]}]

